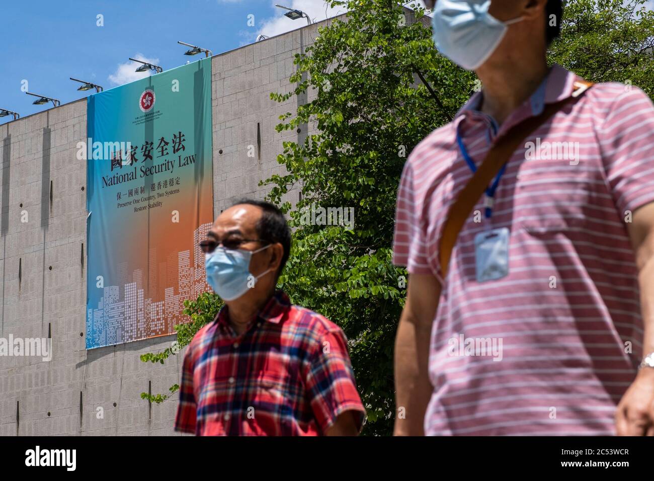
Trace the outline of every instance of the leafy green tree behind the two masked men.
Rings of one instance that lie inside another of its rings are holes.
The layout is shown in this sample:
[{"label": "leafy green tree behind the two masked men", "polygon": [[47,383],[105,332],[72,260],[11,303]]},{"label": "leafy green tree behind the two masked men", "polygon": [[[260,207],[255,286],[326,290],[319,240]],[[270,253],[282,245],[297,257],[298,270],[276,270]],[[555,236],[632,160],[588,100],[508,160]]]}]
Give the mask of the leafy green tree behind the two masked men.
[{"label": "leafy green tree behind the two masked men", "polygon": [[[305,123],[317,127],[303,143],[284,143],[277,160],[287,175],[273,175],[269,200],[294,226],[292,253],[279,284],[292,302],[325,315],[349,339],[358,388],[368,419],[364,434],[389,435],[394,406],[392,352],[405,298],[407,273],[391,264],[396,193],[405,156],[426,135],[449,122],[479,86],[473,73],[439,56],[424,10],[394,0],[330,0],[346,6],[347,19],[320,27],[295,58],[292,92],[284,101],[315,98],[281,117],[278,132]],[[595,82],[615,80],[652,96],[654,17],[645,0],[571,0],[566,5],[551,62]],[[406,17],[405,17],[406,15]],[[648,50],[649,49],[649,50]],[[430,85],[432,92],[420,80]],[[300,185],[297,205],[283,203]],[[354,228],[307,224],[307,209],[353,207]],[[185,302],[189,324],[176,327],[177,349],[186,346],[220,306],[215,294]],[[141,356],[160,362],[177,349]],[[177,391],[173,385],[171,394]],[[141,397],[162,402],[169,395]]]}]

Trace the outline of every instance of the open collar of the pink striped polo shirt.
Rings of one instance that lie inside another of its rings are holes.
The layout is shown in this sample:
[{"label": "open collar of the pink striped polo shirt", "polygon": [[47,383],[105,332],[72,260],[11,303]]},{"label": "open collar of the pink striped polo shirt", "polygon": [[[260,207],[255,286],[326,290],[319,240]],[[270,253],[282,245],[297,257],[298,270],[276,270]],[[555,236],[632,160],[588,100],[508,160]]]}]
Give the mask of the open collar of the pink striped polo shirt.
[{"label": "open collar of the pink striped polo shirt", "polygon": [[[528,116],[540,115],[547,103],[555,103],[570,97],[574,90],[576,79],[577,76],[574,73],[564,69],[558,63],[552,65],[545,79],[543,79],[530,98],[509,115],[507,121],[502,124],[502,130],[505,130],[505,126],[508,123],[514,125]],[[482,98],[482,92],[475,92],[456,113],[455,119],[459,116],[465,117],[466,115],[481,113],[479,111],[479,103],[481,103]]]}]

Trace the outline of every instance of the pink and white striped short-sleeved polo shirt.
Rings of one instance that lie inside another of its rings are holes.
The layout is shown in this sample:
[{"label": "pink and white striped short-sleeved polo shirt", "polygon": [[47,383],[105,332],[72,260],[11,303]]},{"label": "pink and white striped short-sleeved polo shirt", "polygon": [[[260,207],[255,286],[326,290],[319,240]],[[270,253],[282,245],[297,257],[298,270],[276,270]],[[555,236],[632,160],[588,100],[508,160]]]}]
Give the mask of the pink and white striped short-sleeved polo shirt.
[{"label": "pink and white striped short-sleeved polo shirt", "polygon": [[[596,84],[525,139],[496,190],[464,225],[442,278],[441,228],[490,142],[568,98],[577,79],[554,65],[495,132],[477,111],[413,149],[402,173],[394,263],[443,286],[429,356],[427,435],[612,435],[615,406],[642,357],[637,268],[625,222],[654,201],[654,106],[638,88]],[[531,142],[531,143],[530,143]],[[509,228],[509,272],[479,283],[475,234]]]}]

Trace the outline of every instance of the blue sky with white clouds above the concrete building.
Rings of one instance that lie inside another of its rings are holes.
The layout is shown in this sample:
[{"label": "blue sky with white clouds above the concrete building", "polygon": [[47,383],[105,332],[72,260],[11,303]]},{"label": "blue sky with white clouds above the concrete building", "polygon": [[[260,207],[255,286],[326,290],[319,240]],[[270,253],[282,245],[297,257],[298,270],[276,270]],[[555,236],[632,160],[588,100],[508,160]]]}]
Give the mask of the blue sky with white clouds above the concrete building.
[{"label": "blue sky with white clouds above the concrete building", "polygon": [[[2,0],[4,45],[0,49],[0,109],[31,115],[52,107],[32,105],[30,92],[67,103],[93,90],[78,92],[69,77],[94,82],[105,90],[148,74],[134,73],[137,63],[156,62],[164,70],[194,62],[184,56],[199,45],[213,54],[306,25],[289,20],[275,3],[303,10],[314,20],[334,16],[322,0]],[[97,26],[97,15],[104,26]],[[254,26],[248,25],[254,15]],[[250,17],[250,20],[252,17]],[[0,117],[0,124],[11,116]]]}]

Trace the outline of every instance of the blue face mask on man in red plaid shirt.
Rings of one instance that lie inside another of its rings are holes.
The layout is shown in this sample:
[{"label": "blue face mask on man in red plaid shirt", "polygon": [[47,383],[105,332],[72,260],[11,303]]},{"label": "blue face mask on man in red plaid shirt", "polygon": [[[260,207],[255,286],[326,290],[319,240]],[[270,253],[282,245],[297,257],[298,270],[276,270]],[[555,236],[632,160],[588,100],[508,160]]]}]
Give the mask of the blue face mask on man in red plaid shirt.
[{"label": "blue face mask on man in red plaid shirt", "polygon": [[252,254],[263,251],[268,247],[270,247],[270,244],[256,251],[216,247],[212,253],[205,254],[207,283],[222,300],[234,300],[241,297],[249,289],[248,284],[250,282],[254,281],[253,287],[260,277],[271,271],[271,269],[268,269],[258,276],[250,274]]}]

